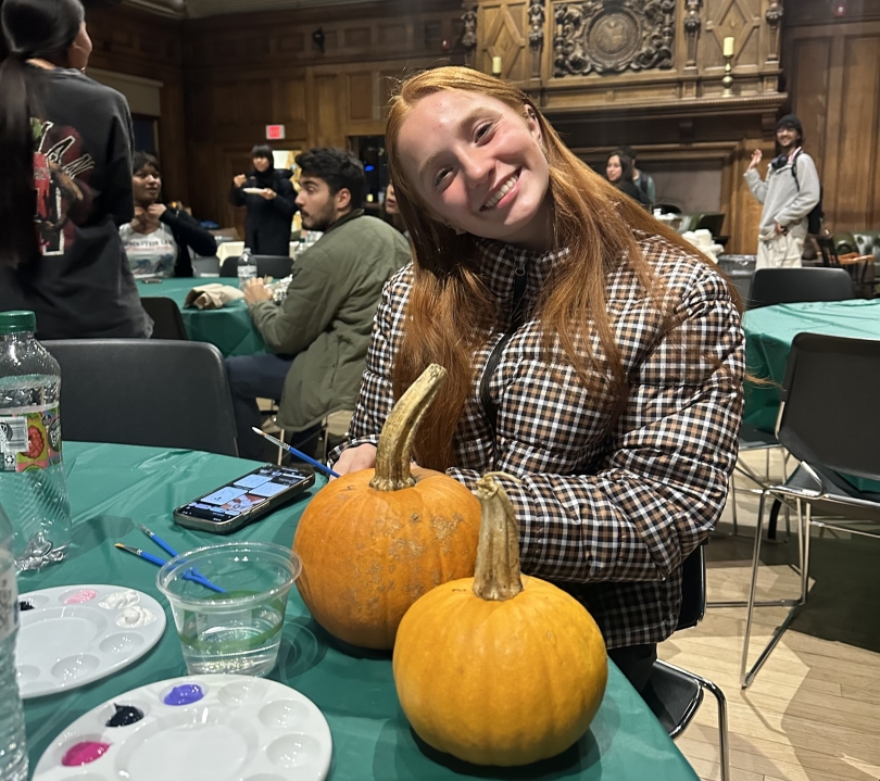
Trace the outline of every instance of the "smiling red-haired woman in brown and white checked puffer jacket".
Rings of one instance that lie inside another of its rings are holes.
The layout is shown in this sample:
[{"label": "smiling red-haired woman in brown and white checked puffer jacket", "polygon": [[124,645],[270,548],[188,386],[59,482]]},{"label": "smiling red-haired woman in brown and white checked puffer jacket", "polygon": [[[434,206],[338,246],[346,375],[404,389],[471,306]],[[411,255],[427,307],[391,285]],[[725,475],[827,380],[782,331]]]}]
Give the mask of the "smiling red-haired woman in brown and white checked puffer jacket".
[{"label": "smiling red-haired woman in brown and white checked puffer jacket", "polygon": [[394,400],[444,366],[414,457],[472,488],[490,470],[518,478],[498,479],[524,570],[590,609],[641,690],[737,459],[733,294],[503,80],[414,76],[386,144],[414,262],[386,286],[335,468],[373,466]]}]

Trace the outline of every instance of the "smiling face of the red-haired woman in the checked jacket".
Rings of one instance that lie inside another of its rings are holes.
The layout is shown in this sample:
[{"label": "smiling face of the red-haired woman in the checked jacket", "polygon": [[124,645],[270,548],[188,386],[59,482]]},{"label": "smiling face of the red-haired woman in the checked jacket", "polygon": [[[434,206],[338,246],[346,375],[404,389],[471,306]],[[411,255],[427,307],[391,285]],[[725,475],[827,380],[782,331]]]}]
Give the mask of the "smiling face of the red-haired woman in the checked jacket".
[{"label": "smiling face of the red-haired woman in the checked jacket", "polygon": [[403,121],[402,173],[431,216],[474,236],[549,243],[550,172],[537,117],[464,90],[435,92]]}]

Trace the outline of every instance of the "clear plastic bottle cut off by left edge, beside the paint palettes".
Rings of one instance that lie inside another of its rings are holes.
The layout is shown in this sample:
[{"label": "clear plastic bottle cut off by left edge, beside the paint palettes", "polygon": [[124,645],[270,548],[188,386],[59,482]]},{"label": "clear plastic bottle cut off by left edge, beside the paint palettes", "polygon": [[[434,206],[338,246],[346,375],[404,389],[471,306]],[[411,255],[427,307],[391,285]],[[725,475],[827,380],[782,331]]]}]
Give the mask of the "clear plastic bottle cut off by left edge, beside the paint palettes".
[{"label": "clear plastic bottle cut off by left edge, beside the paint palettes", "polygon": [[0,507],[0,780],[26,781],[24,710],[15,680],[18,590],[12,536],[12,524]]}]

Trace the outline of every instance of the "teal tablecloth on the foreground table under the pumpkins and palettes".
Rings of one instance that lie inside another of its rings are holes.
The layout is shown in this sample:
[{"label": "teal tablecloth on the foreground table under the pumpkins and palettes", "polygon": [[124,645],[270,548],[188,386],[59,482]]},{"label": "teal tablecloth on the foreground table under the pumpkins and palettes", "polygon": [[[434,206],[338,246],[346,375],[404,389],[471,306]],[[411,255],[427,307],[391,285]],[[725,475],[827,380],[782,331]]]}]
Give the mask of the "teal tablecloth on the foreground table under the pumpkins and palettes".
[{"label": "teal tablecloth on the foreground table under the pumpkins and palettes", "polygon": [[[74,543],[64,563],[20,576],[22,592],[105,582],[144,591],[165,605],[155,588],[155,567],[114,549],[113,543],[152,551],[139,524],[178,551],[222,541],[173,525],[172,509],[253,468],[253,463],[229,456],[114,444],[65,443],[64,455]],[[290,545],[306,501],[284,507],[232,537]],[[96,705],[137,686],[186,675],[167,606],[165,612],[168,628],[164,637],[139,662],[68,693],[26,701],[32,767],[67,725]],[[326,716],[334,740],[331,781],[697,778],[614,664],[590,731],[556,759],[518,770],[475,768],[453,760],[447,767],[426,756],[398,703],[390,654],[344,653],[311,619],[296,589],[287,609],[279,663],[271,677],[302,692]]]}]

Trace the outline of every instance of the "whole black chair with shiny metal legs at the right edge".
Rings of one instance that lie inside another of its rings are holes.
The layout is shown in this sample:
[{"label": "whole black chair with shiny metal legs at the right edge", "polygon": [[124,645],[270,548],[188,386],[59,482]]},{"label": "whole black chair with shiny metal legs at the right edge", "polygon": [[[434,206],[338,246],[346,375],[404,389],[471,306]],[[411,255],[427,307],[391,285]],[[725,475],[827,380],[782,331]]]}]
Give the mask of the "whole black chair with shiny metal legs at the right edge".
[{"label": "whole black chair with shiny metal legs at the right edge", "polygon": [[[862,491],[840,476],[843,473],[880,480],[880,419],[876,415],[865,414],[873,408],[878,387],[880,341],[820,333],[799,333],[794,338],[785,368],[777,436],[801,465],[783,484],[769,486],[760,494],[742,650],[743,689],[749,688],[755,679],[794,615],[806,603],[810,526],[863,537],[880,537],[880,531],[845,526],[853,521],[831,524],[812,518],[813,509],[817,509],[827,515],[845,513],[855,522],[864,524],[867,520],[880,524],[880,493]],[[794,600],[755,600],[760,527],[767,496],[793,502],[797,506],[801,593]],[[801,513],[802,503],[806,504],[804,513]],[[845,574],[841,575],[845,577]],[[753,667],[746,670],[754,608],[766,606],[789,607],[789,615],[774,632]]]}]

